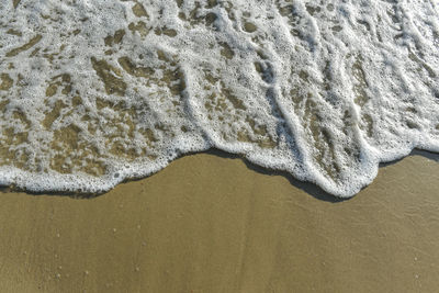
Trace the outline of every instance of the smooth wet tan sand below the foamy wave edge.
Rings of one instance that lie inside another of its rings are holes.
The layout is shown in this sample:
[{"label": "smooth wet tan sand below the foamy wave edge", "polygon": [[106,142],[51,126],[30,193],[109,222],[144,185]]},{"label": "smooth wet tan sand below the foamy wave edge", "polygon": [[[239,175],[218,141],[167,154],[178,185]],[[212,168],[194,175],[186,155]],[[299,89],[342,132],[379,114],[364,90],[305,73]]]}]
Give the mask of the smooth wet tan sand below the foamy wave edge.
[{"label": "smooth wet tan sand below the foamy wave edge", "polygon": [[0,292],[435,292],[439,162],[416,154],[344,202],[212,154],[91,200],[0,193]]}]

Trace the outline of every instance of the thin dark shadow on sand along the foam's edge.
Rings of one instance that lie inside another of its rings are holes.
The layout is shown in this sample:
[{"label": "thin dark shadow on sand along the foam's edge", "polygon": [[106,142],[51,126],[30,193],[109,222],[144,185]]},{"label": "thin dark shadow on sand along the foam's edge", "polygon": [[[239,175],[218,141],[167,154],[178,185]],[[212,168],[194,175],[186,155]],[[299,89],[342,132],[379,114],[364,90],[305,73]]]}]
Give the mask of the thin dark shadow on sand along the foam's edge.
[{"label": "thin dark shadow on sand along the foam's edge", "polygon": [[[308,193],[309,195],[314,196],[317,200],[320,201],[326,201],[326,202],[331,202],[331,203],[339,203],[339,202],[344,202],[344,201],[348,201],[349,199],[341,199],[341,198],[337,198],[334,196],[329,193],[327,193],[326,191],[324,191],[322,188],[319,188],[318,185],[311,183],[311,182],[304,182],[304,181],[300,181],[295,178],[292,177],[292,174],[290,174],[289,172],[285,171],[279,171],[279,170],[271,170],[271,169],[267,169],[263,167],[260,167],[258,165],[255,165],[250,161],[248,161],[247,159],[245,159],[243,156],[240,155],[235,155],[235,154],[228,154],[225,153],[223,150],[219,149],[209,149],[206,151],[204,151],[203,154],[207,154],[207,155],[212,155],[212,156],[217,156],[221,158],[226,158],[226,159],[241,159],[244,161],[244,164],[247,166],[248,169],[254,170],[258,173],[262,173],[266,176],[282,176],[284,178],[286,178],[290,183],[294,187],[296,187],[297,189],[301,189],[303,191],[305,191],[306,193]],[[196,154],[185,154],[184,156],[194,156]],[[425,157],[427,159],[434,160],[439,162],[439,154],[435,154],[435,153],[430,153],[427,150],[420,150],[420,149],[414,149],[408,156],[421,156]],[[390,162],[383,162],[380,164],[380,168],[382,167],[387,167],[387,166],[392,166],[394,164],[397,164],[398,161],[403,160],[404,158],[394,160],[394,161],[390,161]],[[151,174],[155,176],[155,174]],[[144,178],[135,178],[135,179],[130,179],[126,180],[123,183],[127,183],[130,181],[138,181],[142,180]],[[365,187],[368,188],[368,187]],[[94,199],[101,195],[104,195],[106,192],[102,192],[102,193],[77,193],[77,192],[64,192],[64,191],[54,191],[54,192],[30,192],[30,191],[25,191],[25,190],[21,190],[16,187],[0,187],[0,192],[2,193],[9,193],[9,192],[25,192],[29,195],[55,195],[55,196],[69,196],[72,199]]]}]

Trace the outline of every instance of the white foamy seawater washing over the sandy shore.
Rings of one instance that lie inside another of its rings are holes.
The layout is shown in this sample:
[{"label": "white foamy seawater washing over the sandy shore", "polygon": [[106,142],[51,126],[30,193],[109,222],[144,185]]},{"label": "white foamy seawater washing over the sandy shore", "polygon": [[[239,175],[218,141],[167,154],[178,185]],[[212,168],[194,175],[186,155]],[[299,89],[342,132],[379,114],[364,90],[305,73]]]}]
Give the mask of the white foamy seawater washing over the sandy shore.
[{"label": "white foamy seawater washing over the sandy shore", "polygon": [[351,196],[439,151],[438,76],[434,0],[4,0],[0,184],[102,192],[215,147]]}]

